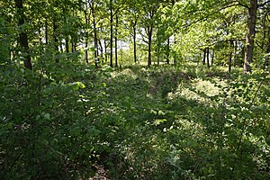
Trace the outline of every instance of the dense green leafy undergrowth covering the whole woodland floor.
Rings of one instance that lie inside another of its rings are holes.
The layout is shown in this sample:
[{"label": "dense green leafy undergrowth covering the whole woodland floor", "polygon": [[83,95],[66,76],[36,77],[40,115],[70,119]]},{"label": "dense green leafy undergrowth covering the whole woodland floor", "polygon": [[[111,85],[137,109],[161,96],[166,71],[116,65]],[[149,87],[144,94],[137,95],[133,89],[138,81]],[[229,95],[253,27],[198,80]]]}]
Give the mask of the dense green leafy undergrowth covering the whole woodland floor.
[{"label": "dense green leafy undergrowth covering the whole woodland floor", "polygon": [[269,73],[61,66],[1,66],[1,179],[270,178]]}]

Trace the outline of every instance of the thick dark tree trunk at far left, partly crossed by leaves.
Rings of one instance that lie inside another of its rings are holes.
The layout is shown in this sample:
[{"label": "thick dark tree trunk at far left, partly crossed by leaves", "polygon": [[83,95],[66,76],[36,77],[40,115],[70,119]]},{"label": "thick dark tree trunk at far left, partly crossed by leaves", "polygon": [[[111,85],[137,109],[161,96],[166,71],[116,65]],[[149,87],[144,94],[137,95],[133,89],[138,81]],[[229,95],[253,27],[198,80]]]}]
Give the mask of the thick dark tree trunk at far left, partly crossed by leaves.
[{"label": "thick dark tree trunk at far left, partly crossed by leaves", "polygon": [[[24,16],[24,11],[23,11],[23,0],[15,0],[15,5],[17,8],[17,12],[19,15],[19,23],[18,25],[21,26],[23,25],[24,21],[25,21],[25,16]],[[19,34],[19,40],[18,40],[20,46],[22,47],[23,50],[23,54],[25,54],[25,56],[23,57],[23,65],[26,68],[32,69],[31,66],[31,56],[30,56],[30,52],[29,52],[29,43],[28,43],[28,37],[25,31],[20,32]]]}]

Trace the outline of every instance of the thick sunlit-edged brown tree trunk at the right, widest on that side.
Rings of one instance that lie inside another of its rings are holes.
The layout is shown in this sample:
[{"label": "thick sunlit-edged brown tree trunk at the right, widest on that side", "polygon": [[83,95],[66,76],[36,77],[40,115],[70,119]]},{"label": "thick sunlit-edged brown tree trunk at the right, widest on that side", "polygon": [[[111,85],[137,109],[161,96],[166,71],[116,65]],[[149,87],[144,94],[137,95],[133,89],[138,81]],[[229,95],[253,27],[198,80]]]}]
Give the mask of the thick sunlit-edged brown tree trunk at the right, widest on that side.
[{"label": "thick sunlit-edged brown tree trunk at the right, widest on that side", "polygon": [[252,63],[254,41],[256,34],[256,20],[257,20],[257,0],[250,0],[250,6],[247,11],[247,38],[246,38],[246,52],[244,71],[251,72],[250,63]]}]

